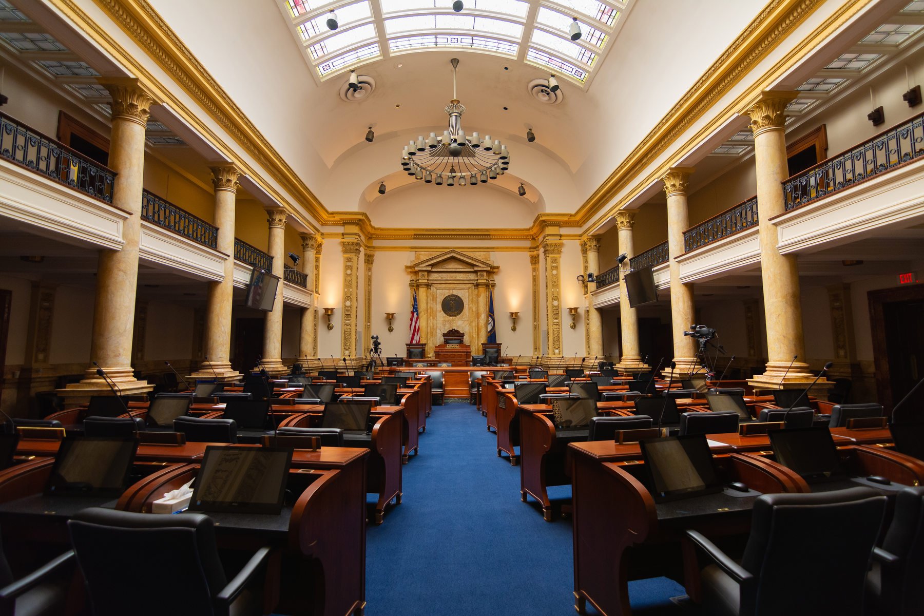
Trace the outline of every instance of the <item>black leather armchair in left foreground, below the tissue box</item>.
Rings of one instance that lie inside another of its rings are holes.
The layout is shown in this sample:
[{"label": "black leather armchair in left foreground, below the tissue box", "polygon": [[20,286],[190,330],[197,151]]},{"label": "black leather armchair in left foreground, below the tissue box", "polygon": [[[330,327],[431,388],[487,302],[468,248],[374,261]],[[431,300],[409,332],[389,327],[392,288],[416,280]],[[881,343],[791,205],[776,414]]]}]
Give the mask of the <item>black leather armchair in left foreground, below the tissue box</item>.
[{"label": "black leather armchair in left foreground, below the tissue box", "polygon": [[[67,528],[94,616],[262,614],[270,548],[257,550],[229,582],[208,515],[91,507]],[[127,562],[158,598],[126,583]]]}]

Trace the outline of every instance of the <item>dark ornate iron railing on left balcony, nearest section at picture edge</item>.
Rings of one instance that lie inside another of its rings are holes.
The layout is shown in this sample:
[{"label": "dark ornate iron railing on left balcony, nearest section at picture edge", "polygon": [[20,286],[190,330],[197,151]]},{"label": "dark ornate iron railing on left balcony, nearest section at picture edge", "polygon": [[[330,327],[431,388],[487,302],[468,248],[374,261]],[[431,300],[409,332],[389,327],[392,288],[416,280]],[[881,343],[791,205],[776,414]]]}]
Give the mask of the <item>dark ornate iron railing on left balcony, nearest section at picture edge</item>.
[{"label": "dark ornate iron railing on left balcony, nearest section at picture edge", "polygon": [[0,156],[94,199],[113,202],[115,171],[5,114],[0,114]]}]

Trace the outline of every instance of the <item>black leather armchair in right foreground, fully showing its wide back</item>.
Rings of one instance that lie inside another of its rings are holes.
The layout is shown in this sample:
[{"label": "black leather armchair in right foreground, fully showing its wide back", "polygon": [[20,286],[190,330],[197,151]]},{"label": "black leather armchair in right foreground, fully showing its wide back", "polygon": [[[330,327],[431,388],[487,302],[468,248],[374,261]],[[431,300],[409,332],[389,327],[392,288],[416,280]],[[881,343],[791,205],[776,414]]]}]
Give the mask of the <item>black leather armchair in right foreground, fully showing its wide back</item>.
[{"label": "black leather armchair in right foreground, fully showing its wide back", "polygon": [[754,501],[740,564],[687,530],[714,562],[700,578],[703,612],[861,616],[863,583],[885,506],[886,497],[869,488],[764,494]]}]

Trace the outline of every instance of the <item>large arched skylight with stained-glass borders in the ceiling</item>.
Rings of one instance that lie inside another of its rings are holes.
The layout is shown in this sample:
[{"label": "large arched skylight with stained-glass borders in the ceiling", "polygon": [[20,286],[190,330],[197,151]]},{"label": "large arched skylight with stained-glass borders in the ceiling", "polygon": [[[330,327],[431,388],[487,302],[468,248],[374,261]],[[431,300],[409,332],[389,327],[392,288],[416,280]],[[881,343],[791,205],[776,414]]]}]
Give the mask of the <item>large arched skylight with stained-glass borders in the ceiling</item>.
[{"label": "large arched skylight with stained-glass borders in the ceiling", "polygon": [[[4,2],[5,0],[0,0]],[[277,0],[320,80],[360,63],[442,48],[513,57],[589,83],[631,0]],[[335,12],[336,30],[327,27]],[[581,36],[568,28],[577,18]]]}]

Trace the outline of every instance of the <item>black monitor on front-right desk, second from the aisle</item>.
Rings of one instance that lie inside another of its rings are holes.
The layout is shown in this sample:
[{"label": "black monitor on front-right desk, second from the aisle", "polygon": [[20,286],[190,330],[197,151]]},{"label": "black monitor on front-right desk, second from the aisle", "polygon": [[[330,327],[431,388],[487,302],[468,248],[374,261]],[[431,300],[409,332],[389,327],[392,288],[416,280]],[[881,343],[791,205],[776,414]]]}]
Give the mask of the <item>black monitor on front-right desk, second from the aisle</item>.
[{"label": "black monitor on front-right desk, second from the aisle", "polygon": [[768,435],[776,461],[796,471],[806,482],[847,477],[827,427],[771,430]]}]

